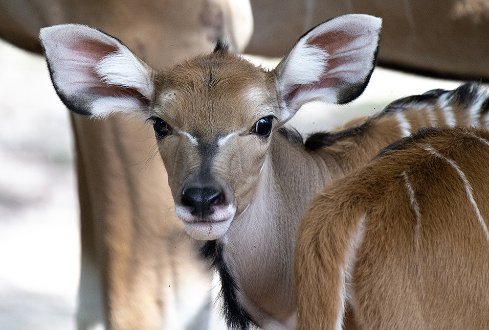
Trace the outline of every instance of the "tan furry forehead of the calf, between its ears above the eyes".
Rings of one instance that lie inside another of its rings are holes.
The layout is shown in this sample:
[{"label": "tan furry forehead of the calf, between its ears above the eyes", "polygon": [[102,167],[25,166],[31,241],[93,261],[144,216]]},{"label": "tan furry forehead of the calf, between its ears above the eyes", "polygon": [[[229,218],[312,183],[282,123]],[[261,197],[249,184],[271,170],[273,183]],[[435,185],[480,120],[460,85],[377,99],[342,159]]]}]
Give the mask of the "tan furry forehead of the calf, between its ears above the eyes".
[{"label": "tan furry forehead of the calf, between its ears above the eyes", "polygon": [[235,55],[184,62],[161,80],[156,105],[166,120],[184,130],[240,130],[272,112],[271,73]]}]

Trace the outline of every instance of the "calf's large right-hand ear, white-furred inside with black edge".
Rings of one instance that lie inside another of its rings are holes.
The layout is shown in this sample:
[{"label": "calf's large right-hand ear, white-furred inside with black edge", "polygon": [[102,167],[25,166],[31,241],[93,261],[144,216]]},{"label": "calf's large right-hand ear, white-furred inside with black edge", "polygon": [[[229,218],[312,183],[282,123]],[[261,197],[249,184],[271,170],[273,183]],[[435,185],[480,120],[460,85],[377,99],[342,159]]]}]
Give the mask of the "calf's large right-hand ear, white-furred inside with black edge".
[{"label": "calf's large right-hand ear, white-furred inside with black edge", "polygon": [[347,103],[368,84],[374,70],[382,20],[345,15],[304,34],[275,69],[282,121],[314,100]]}]

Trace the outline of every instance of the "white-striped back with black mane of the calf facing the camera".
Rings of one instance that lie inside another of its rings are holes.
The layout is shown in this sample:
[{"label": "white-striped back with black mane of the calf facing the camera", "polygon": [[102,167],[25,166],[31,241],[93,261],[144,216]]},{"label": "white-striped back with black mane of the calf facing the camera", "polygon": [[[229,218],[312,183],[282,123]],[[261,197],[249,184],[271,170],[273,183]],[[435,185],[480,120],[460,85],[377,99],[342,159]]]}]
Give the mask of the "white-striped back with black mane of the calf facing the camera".
[{"label": "white-striped back with black mane of the calf facing the camera", "polygon": [[[305,148],[333,158],[346,174],[371,160],[390,143],[423,127],[489,127],[489,91],[476,83],[465,83],[453,91],[432,90],[400,98],[367,118],[356,118],[340,130],[312,134]],[[330,168],[334,168],[329,166]]]}]

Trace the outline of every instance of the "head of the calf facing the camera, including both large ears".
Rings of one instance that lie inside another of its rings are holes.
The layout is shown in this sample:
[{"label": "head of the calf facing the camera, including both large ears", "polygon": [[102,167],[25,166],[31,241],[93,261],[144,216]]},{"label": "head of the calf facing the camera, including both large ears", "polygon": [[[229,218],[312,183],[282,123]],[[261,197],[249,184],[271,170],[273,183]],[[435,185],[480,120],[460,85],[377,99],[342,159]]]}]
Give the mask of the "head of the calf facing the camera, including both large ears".
[{"label": "head of the calf facing the camera, including both large ears", "polygon": [[55,89],[72,111],[153,124],[176,213],[196,239],[223,236],[264,180],[279,129],[310,101],[347,103],[373,71],[381,20],[346,15],[312,28],[271,71],[214,52],[164,71],[116,38],[65,24],[40,38]]}]

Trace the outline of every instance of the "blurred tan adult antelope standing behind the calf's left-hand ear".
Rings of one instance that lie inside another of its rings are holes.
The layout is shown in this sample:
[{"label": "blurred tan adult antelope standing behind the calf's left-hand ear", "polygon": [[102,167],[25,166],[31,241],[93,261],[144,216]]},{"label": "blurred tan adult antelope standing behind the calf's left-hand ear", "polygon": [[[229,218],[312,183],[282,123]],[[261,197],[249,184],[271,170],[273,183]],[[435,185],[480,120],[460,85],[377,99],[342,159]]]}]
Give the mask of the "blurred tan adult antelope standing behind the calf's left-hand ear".
[{"label": "blurred tan adult antelope standing behind the calf's left-hand ear", "polygon": [[[242,51],[252,30],[241,0],[0,0],[0,36],[23,49],[41,53],[39,29],[62,23],[113,33],[163,68],[212,50],[218,38]],[[181,235],[163,165],[148,165],[157,153],[152,128],[124,115],[71,119],[81,211],[78,328],[182,330],[195,322],[207,329],[212,275]]]}]

